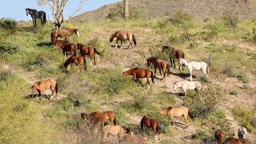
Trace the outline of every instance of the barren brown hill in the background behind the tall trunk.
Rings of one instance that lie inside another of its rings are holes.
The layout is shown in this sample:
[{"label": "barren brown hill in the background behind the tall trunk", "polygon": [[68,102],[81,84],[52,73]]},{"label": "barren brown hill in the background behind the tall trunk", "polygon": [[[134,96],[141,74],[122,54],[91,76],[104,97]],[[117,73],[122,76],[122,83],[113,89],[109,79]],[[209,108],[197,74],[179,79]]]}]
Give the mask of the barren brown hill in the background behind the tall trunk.
[{"label": "barren brown hill in the background behind the tall trunk", "polygon": [[[74,21],[100,22],[106,19],[110,10],[122,2],[102,6],[74,17]],[[174,14],[177,10],[185,11],[194,18],[220,18],[225,12],[238,13],[239,18],[248,19],[256,17],[256,2],[247,4],[243,0],[130,0],[130,6],[138,10],[139,18],[159,18],[164,15]]]}]

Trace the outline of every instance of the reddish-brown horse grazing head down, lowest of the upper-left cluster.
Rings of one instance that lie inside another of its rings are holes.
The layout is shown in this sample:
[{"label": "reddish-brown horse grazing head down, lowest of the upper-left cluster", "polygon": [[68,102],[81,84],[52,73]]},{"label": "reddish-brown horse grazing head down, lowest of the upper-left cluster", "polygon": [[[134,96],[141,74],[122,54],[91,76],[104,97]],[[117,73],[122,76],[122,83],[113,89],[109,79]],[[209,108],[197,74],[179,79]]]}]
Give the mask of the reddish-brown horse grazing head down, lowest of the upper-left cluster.
[{"label": "reddish-brown horse grazing head down, lowest of the upper-left cluster", "polygon": [[[71,56],[70,58],[68,58],[66,60],[66,62],[64,63],[64,67],[67,68],[67,66],[69,66],[70,64],[76,64],[79,66],[80,72],[82,72],[82,66],[85,65],[85,70],[87,70],[86,67],[86,58],[82,57],[82,56]],[[72,66],[72,65],[71,65]]]}]

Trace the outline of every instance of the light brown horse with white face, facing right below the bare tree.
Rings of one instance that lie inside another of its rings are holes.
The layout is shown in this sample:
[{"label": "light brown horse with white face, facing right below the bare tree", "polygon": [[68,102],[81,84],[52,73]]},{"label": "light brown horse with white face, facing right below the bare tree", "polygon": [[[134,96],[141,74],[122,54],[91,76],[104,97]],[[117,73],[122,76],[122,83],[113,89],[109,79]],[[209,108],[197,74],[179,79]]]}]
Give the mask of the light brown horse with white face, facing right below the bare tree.
[{"label": "light brown horse with white face, facing right below the bare tree", "polygon": [[58,37],[60,38],[67,38],[71,34],[77,34],[77,37],[79,37],[78,29],[59,29],[59,30],[53,30],[50,34],[50,40],[51,42],[56,42]]}]

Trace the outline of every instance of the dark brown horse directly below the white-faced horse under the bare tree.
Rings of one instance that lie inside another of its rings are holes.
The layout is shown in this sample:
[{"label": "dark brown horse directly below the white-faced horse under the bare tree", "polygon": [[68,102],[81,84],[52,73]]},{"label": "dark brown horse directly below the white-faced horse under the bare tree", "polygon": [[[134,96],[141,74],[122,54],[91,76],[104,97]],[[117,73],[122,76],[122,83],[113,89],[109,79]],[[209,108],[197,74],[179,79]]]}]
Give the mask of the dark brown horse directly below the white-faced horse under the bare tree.
[{"label": "dark brown horse directly below the white-faced horse under the bare tree", "polygon": [[71,55],[77,55],[77,46],[74,43],[70,43],[68,41],[58,40],[58,41],[54,42],[54,48],[58,48],[58,46],[60,48],[62,48],[64,57],[65,57],[65,53],[66,53],[66,56],[67,56],[68,51],[70,51]]}]

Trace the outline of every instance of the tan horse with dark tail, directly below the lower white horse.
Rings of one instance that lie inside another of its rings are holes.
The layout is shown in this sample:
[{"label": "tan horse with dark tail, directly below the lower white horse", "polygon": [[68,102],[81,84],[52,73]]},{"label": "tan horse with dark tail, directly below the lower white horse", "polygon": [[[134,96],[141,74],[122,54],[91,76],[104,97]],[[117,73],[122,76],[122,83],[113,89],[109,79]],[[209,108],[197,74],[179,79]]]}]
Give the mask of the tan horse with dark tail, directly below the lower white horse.
[{"label": "tan horse with dark tail, directly below the lower white horse", "polygon": [[[187,116],[189,115],[190,118],[193,118],[192,114],[190,114],[188,108],[186,108],[185,106],[171,106],[164,110],[160,110],[159,113],[162,115],[168,115],[171,121],[172,121],[172,118],[179,118],[183,115],[186,123],[185,128],[189,127],[189,124],[187,122]],[[175,126],[176,120],[172,122],[173,122],[173,125]]]}]

